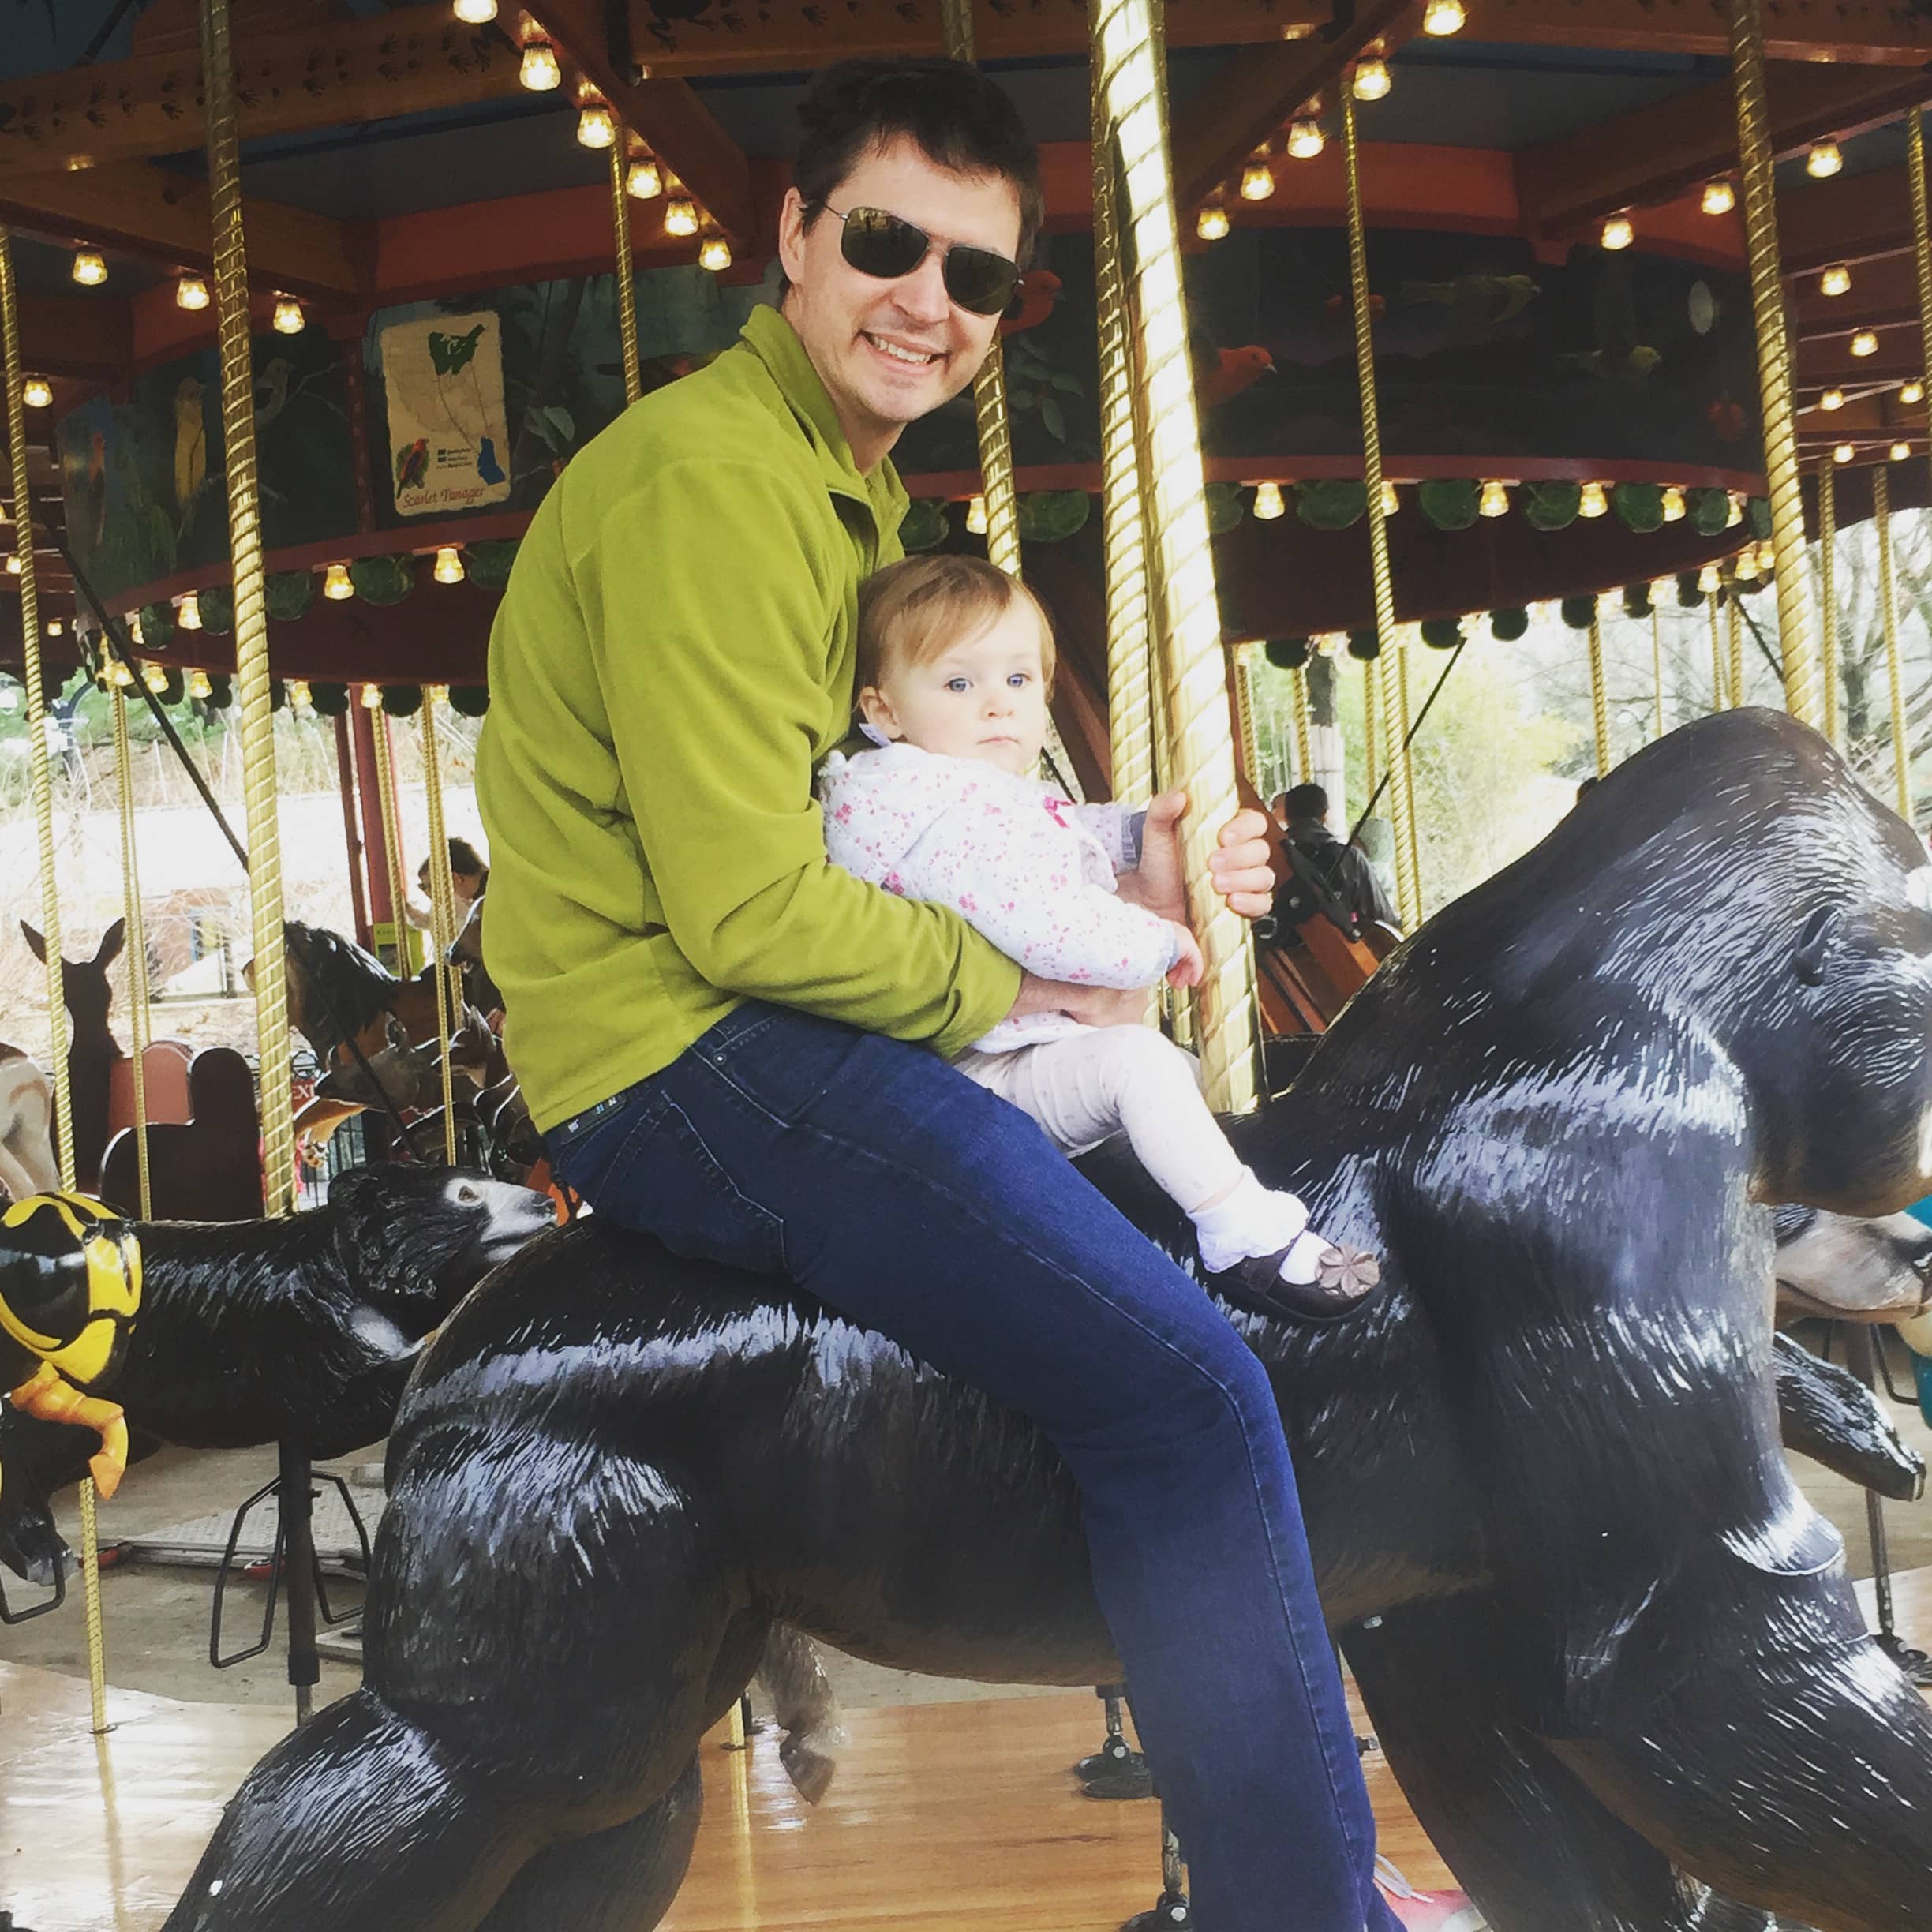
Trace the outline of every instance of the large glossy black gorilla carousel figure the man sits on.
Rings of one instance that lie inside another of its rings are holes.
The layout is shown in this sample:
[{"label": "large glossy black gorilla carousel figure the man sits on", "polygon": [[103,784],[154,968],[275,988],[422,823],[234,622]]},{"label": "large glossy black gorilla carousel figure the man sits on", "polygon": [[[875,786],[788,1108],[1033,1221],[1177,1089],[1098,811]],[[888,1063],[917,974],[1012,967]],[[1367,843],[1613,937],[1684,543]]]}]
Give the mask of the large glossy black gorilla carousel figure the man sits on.
[{"label": "large glossy black gorilla carousel figure the man sits on", "polygon": [[[1766,1206],[1932,1184],[1918,838],[1785,717],[1685,726],[1235,1134],[1383,1256],[1352,1323],[1229,1320],[1376,1729],[1495,1932],[1932,1928],[1932,1714],[1779,1451]],[[1180,1246],[1138,1173],[1092,1171]],[[908,1669],[1117,1675],[1030,1424],[595,1221],[456,1312],[388,1474],[365,1687],[257,1766],[168,1932],[649,1932],[697,1739],[781,1619]]]}]

